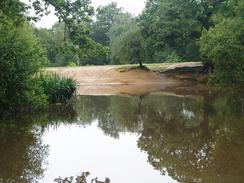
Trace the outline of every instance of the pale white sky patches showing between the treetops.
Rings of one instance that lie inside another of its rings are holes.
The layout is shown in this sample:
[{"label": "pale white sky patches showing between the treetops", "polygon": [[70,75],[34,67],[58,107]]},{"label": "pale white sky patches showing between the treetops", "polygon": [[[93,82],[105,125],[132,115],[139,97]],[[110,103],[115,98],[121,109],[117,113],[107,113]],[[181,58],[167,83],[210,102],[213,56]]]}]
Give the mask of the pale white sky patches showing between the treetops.
[{"label": "pale white sky patches showing between the treetops", "polygon": [[[28,2],[28,0],[21,0],[23,2]],[[124,11],[127,11],[133,15],[138,15],[142,12],[145,7],[146,0],[92,0],[92,5],[95,9],[98,6],[104,6],[111,2],[117,2],[119,7],[122,7]],[[53,12],[53,9],[51,8]],[[36,23],[37,27],[51,28],[52,25],[57,22],[57,17],[51,13],[48,16],[43,17],[40,21]]]}]

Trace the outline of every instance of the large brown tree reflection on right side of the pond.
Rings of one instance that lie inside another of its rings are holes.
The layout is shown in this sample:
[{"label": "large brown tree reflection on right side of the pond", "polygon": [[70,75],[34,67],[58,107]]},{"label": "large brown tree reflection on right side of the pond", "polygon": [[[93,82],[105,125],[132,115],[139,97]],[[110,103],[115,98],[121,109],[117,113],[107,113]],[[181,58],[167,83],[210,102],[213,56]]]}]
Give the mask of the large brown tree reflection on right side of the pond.
[{"label": "large brown tree reflection on right side of the pond", "polygon": [[201,112],[194,112],[200,116],[198,125],[182,123],[179,111],[175,117],[144,121],[138,146],[150,164],[180,182],[242,182],[244,115],[231,111],[230,101],[204,97]]}]

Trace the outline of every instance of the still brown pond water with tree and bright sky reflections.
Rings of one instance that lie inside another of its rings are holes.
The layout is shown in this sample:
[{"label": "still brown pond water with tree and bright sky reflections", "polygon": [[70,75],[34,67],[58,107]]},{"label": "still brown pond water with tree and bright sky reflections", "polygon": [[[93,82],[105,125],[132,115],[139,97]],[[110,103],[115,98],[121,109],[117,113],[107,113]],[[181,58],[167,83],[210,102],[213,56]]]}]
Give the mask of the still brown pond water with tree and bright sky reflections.
[{"label": "still brown pond water with tree and bright sky reflections", "polygon": [[0,122],[0,183],[85,171],[112,183],[242,183],[244,96],[79,96]]}]

